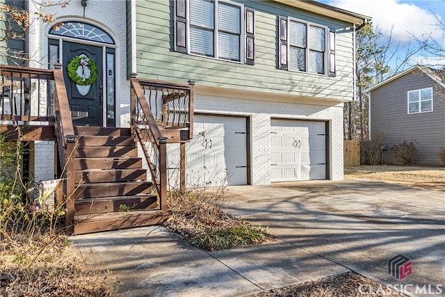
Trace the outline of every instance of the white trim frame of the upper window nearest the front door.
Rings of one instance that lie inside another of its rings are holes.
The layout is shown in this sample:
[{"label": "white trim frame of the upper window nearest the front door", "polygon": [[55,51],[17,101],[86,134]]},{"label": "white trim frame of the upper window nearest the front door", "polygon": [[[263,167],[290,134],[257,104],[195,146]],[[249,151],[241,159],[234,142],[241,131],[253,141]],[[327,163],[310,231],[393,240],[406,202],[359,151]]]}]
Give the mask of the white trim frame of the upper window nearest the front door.
[{"label": "white trim frame of the upper window nearest the front door", "polygon": [[[191,42],[187,42],[187,54],[191,55],[191,56],[199,56],[199,57],[204,57],[204,58],[211,58],[214,60],[219,60],[219,61],[225,61],[225,62],[232,62],[232,63],[238,63],[238,64],[244,64],[245,63],[245,28],[244,28],[244,5],[240,4],[240,3],[236,3],[234,1],[229,1],[229,0],[213,0],[215,2],[215,29],[214,29],[214,34],[213,34],[213,45],[215,46],[215,48],[213,49],[213,53],[215,54],[214,57],[209,57],[209,56],[205,56],[205,55],[200,55],[200,54],[195,54],[191,52]],[[190,18],[190,3],[191,1],[187,1],[187,40],[190,40],[190,26],[191,26],[191,18]],[[218,3],[227,3],[233,6],[238,6],[240,8],[240,40],[239,40],[239,58],[240,61],[232,61],[229,59],[225,59],[225,58],[218,58],[219,53],[218,53]]]}]

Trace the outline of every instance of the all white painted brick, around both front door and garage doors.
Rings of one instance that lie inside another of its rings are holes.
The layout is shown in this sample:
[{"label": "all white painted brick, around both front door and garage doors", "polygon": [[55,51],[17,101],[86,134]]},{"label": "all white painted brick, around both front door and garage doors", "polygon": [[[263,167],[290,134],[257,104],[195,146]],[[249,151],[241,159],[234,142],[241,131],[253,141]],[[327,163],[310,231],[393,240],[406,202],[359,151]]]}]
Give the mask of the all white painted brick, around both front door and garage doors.
[{"label": "all white painted brick, around both front door and garage doors", "polygon": [[[129,125],[125,11],[125,1],[106,0],[88,1],[85,18],[83,18],[83,7],[79,0],[71,1],[67,8],[57,6],[52,11],[47,10],[47,13],[56,15],[58,22],[79,20],[97,24],[111,33],[115,39],[118,57],[116,73],[119,75],[116,88],[116,109],[120,115],[116,123],[118,127]],[[45,59],[47,59],[46,33],[48,30],[49,25],[41,22],[35,22],[31,28],[30,53],[33,53],[31,56],[38,61],[31,65],[33,67],[46,67],[44,63],[47,62]],[[268,166],[270,164],[270,118],[327,120],[330,122],[330,178],[343,179],[343,104],[324,106],[278,102],[277,96],[272,94],[267,99],[268,101],[196,95],[195,111],[221,115],[245,115],[250,118],[252,184],[270,183],[270,166]],[[36,181],[54,178],[54,143],[45,141],[36,143],[35,178]]]}]

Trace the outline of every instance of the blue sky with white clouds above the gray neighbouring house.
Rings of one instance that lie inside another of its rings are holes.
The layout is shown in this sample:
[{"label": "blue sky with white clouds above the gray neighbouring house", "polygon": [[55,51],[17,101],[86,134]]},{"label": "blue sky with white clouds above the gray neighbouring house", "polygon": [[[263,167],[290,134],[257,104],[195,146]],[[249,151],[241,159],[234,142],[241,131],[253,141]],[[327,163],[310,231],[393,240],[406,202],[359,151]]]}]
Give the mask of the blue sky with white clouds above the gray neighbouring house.
[{"label": "blue sky with white clouds above the gray neighbouring house", "polygon": [[[445,0],[318,0],[329,5],[343,8],[354,13],[372,17],[373,24],[380,29],[390,32],[394,46],[399,49],[413,45],[412,36],[421,38],[422,34],[432,33],[432,37],[444,45],[445,48]],[[443,23],[438,26],[438,20]],[[433,59],[421,54],[414,56],[412,65],[445,65],[445,58]]]}]

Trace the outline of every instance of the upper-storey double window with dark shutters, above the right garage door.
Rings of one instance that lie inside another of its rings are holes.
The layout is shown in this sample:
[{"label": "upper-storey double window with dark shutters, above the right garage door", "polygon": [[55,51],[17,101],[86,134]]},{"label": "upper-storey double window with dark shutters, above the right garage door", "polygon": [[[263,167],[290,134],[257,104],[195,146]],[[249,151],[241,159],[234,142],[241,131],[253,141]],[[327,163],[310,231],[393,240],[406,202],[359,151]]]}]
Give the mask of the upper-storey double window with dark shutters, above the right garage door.
[{"label": "upper-storey double window with dark shutters, above the right garage door", "polygon": [[279,30],[280,69],[335,76],[334,31],[291,17],[280,17]]}]

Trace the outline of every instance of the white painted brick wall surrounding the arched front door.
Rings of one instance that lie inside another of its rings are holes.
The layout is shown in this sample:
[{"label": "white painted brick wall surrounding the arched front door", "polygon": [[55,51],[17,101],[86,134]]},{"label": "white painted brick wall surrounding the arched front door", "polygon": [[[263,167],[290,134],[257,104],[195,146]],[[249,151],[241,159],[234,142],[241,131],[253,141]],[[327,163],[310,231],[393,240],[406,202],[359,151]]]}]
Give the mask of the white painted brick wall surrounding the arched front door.
[{"label": "white painted brick wall surrounding the arched front door", "polygon": [[[80,0],[71,1],[66,8],[54,6],[45,8],[46,13],[54,14],[56,22],[81,21],[95,24],[111,34],[115,40],[116,63],[116,118],[117,127],[129,126],[130,91],[127,81],[127,15],[126,1],[88,1],[83,18],[83,7]],[[35,8],[30,6],[30,9]],[[31,11],[31,16],[33,12]],[[30,29],[29,52],[33,57],[31,67],[47,68],[47,32],[49,24],[33,22]],[[51,147],[51,148],[50,148]],[[51,152],[50,152],[51,151]],[[51,156],[51,160],[50,160]],[[41,141],[35,145],[35,181],[54,179],[54,143]]]}]

